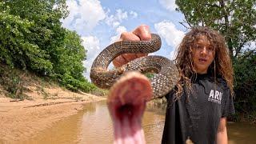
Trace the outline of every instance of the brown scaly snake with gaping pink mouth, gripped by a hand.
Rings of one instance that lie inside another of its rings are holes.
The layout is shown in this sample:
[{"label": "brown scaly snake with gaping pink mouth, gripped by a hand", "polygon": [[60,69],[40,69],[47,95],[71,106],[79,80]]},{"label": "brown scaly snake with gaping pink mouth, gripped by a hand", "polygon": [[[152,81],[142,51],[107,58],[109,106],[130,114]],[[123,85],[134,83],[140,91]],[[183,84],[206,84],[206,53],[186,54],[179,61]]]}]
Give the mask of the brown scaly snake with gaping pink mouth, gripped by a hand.
[{"label": "brown scaly snake with gaping pink mouth, gripped by a hand", "polygon": [[[107,105],[114,122],[114,143],[146,143],[142,130],[142,114],[146,102],[162,98],[178,82],[178,68],[169,58],[149,55],[123,66],[108,69],[121,54],[149,54],[161,48],[158,34],[146,41],[119,41],[107,46],[90,69],[95,86],[110,89]],[[146,78],[145,73],[154,73]]]}]

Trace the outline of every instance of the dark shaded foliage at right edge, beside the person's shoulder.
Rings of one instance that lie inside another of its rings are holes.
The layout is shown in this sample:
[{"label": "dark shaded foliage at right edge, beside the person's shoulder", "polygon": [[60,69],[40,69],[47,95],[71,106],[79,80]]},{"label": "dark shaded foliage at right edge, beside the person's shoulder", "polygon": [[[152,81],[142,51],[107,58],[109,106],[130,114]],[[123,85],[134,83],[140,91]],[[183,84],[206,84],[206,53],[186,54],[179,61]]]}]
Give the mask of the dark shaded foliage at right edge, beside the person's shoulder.
[{"label": "dark shaded foliage at right edge, beside the person's shoulder", "polygon": [[[245,53],[245,54],[248,54]],[[237,58],[234,62],[235,72],[235,106],[238,111],[256,110],[256,54],[248,58]]]}]

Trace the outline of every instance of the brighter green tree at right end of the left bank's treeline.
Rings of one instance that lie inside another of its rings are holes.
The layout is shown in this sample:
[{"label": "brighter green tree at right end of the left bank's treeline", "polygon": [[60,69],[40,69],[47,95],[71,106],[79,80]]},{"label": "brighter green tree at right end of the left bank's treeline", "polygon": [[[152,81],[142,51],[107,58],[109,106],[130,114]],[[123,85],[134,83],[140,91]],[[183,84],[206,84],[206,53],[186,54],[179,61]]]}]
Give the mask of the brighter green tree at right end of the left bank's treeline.
[{"label": "brighter green tree at right end of the left bank's treeline", "polygon": [[78,34],[66,30],[63,44],[55,53],[58,61],[54,64],[54,72],[63,86],[74,91],[80,89],[88,92],[96,89],[82,75],[85,71],[82,61],[86,60],[86,50]]}]

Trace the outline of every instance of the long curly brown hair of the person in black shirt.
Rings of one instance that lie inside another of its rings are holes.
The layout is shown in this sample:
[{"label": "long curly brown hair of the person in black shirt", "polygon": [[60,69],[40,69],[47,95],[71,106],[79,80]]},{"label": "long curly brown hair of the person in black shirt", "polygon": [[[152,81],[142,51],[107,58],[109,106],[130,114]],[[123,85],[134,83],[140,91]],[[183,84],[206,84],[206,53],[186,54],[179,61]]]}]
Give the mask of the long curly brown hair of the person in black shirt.
[{"label": "long curly brown hair of the person in black shirt", "polygon": [[180,80],[177,85],[178,90],[176,91],[177,98],[180,97],[184,84],[191,90],[191,82],[197,76],[194,70],[192,46],[196,44],[200,36],[206,36],[210,45],[215,50],[214,61],[210,64],[208,72],[214,74],[215,79],[216,74],[224,78],[227,86],[230,88],[231,95],[234,95],[234,71],[225,38],[215,30],[204,26],[197,26],[193,27],[182,39],[181,44],[178,46],[177,57],[174,60],[180,73]]}]

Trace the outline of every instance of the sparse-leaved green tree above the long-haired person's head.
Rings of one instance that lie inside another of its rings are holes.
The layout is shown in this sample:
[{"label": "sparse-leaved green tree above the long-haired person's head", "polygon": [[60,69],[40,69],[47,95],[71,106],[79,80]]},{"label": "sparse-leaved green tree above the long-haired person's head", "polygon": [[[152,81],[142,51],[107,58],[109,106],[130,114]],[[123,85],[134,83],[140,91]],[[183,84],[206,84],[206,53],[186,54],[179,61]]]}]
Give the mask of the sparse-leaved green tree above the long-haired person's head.
[{"label": "sparse-leaved green tree above the long-haired person's head", "polygon": [[177,10],[185,16],[184,22],[181,22],[183,25],[210,26],[220,31],[233,58],[242,55],[242,48],[250,47],[251,42],[255,42],[255,0],[176,0],[176,4]]}]

